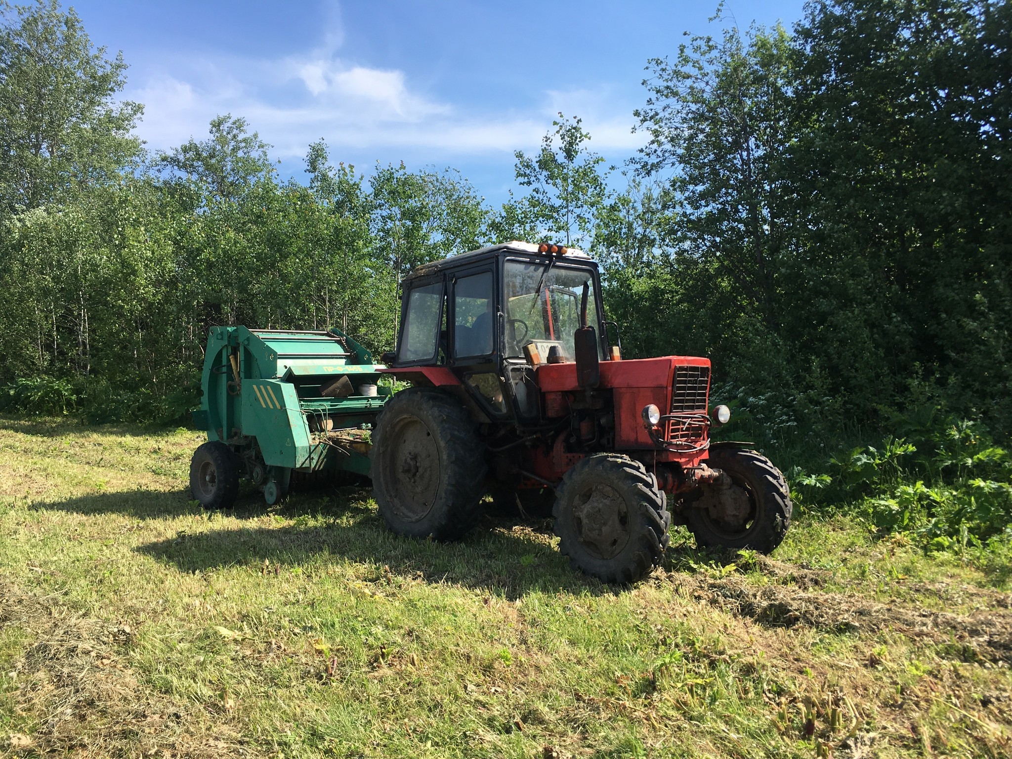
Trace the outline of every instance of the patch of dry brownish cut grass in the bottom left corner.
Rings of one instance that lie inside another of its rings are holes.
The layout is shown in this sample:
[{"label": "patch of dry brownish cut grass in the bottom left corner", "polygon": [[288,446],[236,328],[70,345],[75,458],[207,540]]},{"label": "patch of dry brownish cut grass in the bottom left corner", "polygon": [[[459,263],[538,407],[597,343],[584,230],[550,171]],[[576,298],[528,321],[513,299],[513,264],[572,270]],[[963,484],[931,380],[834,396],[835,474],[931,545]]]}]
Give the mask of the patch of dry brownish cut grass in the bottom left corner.
[{"label": "patch of dry brownish cut grass in the bottom left corner", "polygon": [[199,707],[142,683],[126,662],[129,625],[91,619],[10,585],[0,585],[0,629],[30,643],[13,665],[15,710],[37,726],[7,737],[14,753],[76,757],[213,759],[253,756],[238,736],[208,724]]}]

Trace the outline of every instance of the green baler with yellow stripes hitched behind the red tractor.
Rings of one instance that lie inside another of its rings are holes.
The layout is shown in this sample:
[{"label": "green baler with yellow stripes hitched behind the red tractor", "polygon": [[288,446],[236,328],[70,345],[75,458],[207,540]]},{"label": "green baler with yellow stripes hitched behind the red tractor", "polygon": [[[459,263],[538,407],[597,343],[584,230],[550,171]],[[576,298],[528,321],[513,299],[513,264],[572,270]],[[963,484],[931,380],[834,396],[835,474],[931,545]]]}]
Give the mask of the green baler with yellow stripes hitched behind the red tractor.
[{"label": "green baler with yellow stripes hitched behind the red tractor", "polygon": [[369,429],[388,398],[382,368],[340,330],[213,328],[193,414],[207,431],[190,462],[193,497],[231,506],[246,478],[274,504],[292,473],[367,475]]}]

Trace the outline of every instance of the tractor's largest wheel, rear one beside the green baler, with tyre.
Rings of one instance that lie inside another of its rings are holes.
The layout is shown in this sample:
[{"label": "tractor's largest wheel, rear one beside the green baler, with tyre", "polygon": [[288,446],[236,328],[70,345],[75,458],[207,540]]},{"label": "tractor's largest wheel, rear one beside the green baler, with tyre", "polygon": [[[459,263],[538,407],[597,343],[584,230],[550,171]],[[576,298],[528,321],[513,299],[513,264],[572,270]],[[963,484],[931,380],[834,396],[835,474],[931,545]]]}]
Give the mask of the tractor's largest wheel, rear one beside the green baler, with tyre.
[{"label": "tractor's largest wheel, rear one beside the green baler, with tyre", "polygon": [[396,394],[376,420],[369,456],[380,513],[398,534],[455,540],[481,516],[482,441],[467,409],[447,394]]}]

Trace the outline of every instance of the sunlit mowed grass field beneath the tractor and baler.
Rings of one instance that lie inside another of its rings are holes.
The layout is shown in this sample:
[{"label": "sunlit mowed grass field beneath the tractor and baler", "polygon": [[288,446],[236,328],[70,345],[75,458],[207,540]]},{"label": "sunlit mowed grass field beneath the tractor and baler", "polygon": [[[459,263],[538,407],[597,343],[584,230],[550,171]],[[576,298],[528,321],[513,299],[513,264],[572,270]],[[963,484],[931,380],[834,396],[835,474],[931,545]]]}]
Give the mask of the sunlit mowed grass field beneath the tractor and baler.
[{"label": "sunlit mowed grass field beneath the tractor and baler", "polygon": [[676,530],[607,587],[544,521],[406,539],[354,487],[204,512],[200,442],[0,419],[0,751],[1012,752],[1008,572],[802,515],[772,560]]}]

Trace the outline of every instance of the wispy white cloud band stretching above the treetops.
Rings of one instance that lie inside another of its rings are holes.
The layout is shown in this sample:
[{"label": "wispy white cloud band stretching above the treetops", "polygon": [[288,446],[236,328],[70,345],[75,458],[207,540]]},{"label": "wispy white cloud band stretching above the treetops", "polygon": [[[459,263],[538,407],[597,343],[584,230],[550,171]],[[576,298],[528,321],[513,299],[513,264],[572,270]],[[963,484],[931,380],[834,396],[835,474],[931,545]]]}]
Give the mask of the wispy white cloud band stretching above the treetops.
[{"label": "wispy white cloud band stretching above the treetops", "polygon": [[284,59],[180,57],[161,59],[126,96],[143,102],[142,138],[155,149],[180,145],[206,134],[219,113],[246,117],[281,158],[304,156],[323,137],[335,149],[397,148],[452,156],[511,154],[536,149],[558,111],[579,114],[598,152],[628,153],[643,144],[631,135],[630,108],[601,90],[549,91],[526,112],[475,112],[415,87],[404,71],[372,68],[338,56],[343,28],[336,14],[327,20],[323,45]]}]

